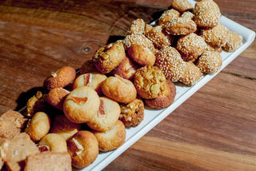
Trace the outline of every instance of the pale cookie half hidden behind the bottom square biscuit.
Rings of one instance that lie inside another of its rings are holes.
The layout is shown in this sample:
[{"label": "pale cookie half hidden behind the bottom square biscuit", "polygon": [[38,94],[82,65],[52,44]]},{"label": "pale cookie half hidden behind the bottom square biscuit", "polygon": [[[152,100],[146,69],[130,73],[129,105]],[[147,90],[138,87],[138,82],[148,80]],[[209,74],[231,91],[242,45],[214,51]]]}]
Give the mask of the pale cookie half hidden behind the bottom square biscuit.
[{"label": "pale cookie half hidden behind the bottom square biscuit", "polygon": [[50,152],[67,152],[65,139],[57,133],[48,133],[38,142],[38,148],[46,147]]}]

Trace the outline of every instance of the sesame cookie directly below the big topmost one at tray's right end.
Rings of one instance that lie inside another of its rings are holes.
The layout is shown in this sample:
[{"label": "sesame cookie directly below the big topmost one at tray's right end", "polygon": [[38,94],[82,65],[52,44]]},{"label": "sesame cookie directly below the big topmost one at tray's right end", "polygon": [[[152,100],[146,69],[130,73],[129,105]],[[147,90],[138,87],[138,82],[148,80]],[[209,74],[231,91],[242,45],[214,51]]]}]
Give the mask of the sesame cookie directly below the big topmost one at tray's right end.
[{"label": "sesame cookie directly below the big topmost one at tray's right end", "polygon": [[229,39],[229,30],[226,26],[218,24],[210,29],[202,29],[200,35],[211,45],[222,47]]}]

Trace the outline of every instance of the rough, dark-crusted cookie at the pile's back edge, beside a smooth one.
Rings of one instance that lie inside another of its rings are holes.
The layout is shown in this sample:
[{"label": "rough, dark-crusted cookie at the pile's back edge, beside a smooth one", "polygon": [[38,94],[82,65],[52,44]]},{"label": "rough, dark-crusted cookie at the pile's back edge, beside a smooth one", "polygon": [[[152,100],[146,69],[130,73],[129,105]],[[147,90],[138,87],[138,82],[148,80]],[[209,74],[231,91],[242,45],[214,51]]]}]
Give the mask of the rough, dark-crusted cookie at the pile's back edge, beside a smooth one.
[{"label": "rough, dark-crusted cookie at the pile's back edge, beside a smooth one", "polygon": [[102,74],[106,74],[114,70],[124,58],[126,58],[126,53],[122,42],[115,42],[99,48],[92,59],[94,66],[96,66]]}]

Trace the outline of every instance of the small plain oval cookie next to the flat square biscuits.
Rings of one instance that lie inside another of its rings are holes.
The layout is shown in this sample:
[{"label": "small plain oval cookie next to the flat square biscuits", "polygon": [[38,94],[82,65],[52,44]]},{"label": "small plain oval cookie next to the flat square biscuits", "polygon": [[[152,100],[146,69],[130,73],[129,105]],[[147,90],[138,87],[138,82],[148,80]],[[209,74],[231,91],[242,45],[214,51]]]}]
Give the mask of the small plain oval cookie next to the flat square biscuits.
[{"label": "small plain oval cookie next to the flat square biscuits", "polygon": [[46,113],[35,113],[26,125],[25,132],[30,135],[32,141],[39,141],[50,130],[50,117]]}]

